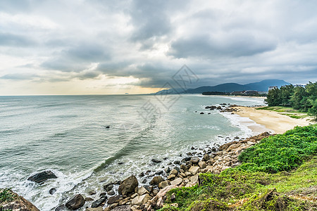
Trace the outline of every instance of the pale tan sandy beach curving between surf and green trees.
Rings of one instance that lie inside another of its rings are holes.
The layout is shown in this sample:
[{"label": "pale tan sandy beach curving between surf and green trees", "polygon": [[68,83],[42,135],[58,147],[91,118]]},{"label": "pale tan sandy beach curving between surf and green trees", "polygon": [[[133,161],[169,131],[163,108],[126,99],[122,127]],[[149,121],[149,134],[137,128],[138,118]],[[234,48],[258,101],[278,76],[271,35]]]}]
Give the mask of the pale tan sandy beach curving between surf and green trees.
[{"label": "pale tan sandy beach curving between surf and green trees", "polygon": [[[313,124],[309,117],[294,119],[286,115],[281,115],[271,110],[256,110],[256,108],[236,107],[239,111],[234,112],[241,117],[248,117],[250,120],[261,124],[266,130],[275,134],[282,134],[295,126],[307,126]],[[263,127],[248,126],[254,132],[263,132]],[[265,130],[264,129],[264,130]]]}]

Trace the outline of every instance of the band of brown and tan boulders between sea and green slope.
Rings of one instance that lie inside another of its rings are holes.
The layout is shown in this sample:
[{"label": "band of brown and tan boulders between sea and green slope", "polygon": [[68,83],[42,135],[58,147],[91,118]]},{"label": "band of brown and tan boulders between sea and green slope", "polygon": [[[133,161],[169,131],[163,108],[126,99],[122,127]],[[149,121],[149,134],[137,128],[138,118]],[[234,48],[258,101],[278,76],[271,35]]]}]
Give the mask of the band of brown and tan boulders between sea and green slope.
[{"label": "band of brown and tan boulders between sea and green slope", "polygon": [[[116,181],[104,185],[105,193],[101,193],[99,199],[94,200],[92,203],[89,202],[89,200],[92,200],[91,198],[84,200],[83,197],[78,194],[68,200],[66,207],[70,208],[70,210],[76,210],[87,203],[87,211],[156,210],[163,207],[164,200],[166,200],[166,193],[170,191],[170,189],[196,185],[199,183],[199,173],[201,172],[219,174],[229,167],[240,165],[237,159],[238,155],[240,155],[244,149],[253,146],[266,136],[270,136],[270,134],[265,132],[258,136],[252,136],[239,141],[239,137],[235,137],[237,141],[225,143],[220,146],[217,151],[206,152],[202,158],[199,158],[197,155],[189,156],[183,158],[180,162],[176,162],[178,165],[173,167],[173,169],[166,167],[164,171],[156,172],[158,175],[154,175],[149,185],[139,186],[137,178],[131,175],[123,181]],[[152,161],[158,162],[159,160]],[[144,176],[144,172],[139,176]],[[120,185],[118,195],[113,191],[115,184]],[[111,192],[113,194],[109,194]],[[106,193],[112,196],[107,198]],[[72,206],[74,205],[75,207],[70,207],[70,201]],[[56,207],[56,211],[57,210],[58,207]]]}]

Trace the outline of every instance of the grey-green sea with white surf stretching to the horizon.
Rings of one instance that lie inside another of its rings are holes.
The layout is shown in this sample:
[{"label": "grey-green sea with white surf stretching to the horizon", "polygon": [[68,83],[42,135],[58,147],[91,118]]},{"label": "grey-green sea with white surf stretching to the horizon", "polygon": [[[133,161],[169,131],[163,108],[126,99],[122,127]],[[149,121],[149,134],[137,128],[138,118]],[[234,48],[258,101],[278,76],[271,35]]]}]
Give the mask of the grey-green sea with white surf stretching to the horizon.
[{"label": "grey-green sea with white surf stretching to the horizon", "polygon": [[[263,98],[0,96],[0,188],[13,188],[45,211],[75,193],[94,190],[89,197],[97,198],[104,184],[151,170],[149,177],[137,176],[148,184],[154,172],[185,158],[192,146],[199,151],[252,135],[241,117],[205,109],[220,103],[260,106]],[[27,181],[43,170],[58,178]]]}]

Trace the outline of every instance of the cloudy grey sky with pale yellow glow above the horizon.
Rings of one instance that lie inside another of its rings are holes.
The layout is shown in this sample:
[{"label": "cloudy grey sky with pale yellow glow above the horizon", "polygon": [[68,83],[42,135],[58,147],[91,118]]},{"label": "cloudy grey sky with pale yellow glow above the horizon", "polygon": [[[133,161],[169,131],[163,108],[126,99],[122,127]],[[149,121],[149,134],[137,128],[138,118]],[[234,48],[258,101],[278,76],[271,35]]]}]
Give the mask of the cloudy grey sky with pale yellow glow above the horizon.
[{"label": "cloudy grey sky with pale yellow glow above the horizon", "polygon": [[317,1],[1,0],[0,95],[317,79]]}]

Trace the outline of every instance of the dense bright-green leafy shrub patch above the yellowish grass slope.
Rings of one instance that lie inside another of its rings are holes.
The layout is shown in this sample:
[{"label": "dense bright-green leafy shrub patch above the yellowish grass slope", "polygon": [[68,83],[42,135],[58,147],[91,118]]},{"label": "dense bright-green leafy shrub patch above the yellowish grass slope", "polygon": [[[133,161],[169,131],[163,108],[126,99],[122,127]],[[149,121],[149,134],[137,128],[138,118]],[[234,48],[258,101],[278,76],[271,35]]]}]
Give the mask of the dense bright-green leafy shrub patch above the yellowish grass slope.
[{"label": "dense bright-green leafy shrub patch above the yellowish grass slope", "polygon": [[239,169],[276,173],[290,171],[311,155],[317,154],[317,124],[294,129],[262,139],[239,156]]}]

